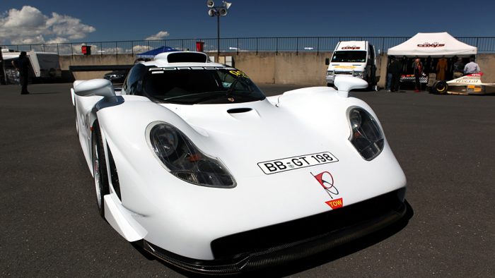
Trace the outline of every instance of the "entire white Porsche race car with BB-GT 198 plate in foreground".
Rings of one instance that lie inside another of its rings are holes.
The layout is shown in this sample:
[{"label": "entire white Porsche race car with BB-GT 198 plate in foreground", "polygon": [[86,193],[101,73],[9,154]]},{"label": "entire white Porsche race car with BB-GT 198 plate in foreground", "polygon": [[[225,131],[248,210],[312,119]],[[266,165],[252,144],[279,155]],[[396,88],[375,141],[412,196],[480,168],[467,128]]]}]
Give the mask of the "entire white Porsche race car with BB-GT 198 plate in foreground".
[{"label": "entire white Porsche race car with BB-GT 198 plate in foreground", "polygon": [[406,178],[373,110],[338,77],[265,97],[199,52],[136,64],[116,93],[74,82],[98,209],[127,241],[185,270],[259,270],[401,219]]}]

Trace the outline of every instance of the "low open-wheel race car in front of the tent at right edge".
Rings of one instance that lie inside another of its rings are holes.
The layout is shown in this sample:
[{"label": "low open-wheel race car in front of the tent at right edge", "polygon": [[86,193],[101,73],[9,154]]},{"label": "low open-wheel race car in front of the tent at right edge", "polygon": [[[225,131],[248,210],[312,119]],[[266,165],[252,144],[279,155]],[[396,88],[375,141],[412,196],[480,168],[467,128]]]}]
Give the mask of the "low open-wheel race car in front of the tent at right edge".
[{"label": "low open-wheel race car in front of the tent at right edge", "polygon": [[484,83],[483,73],[472,73],[450,81],[436,81],[431,90],[436,94],[488,95],[495,94],[495,83]]}]

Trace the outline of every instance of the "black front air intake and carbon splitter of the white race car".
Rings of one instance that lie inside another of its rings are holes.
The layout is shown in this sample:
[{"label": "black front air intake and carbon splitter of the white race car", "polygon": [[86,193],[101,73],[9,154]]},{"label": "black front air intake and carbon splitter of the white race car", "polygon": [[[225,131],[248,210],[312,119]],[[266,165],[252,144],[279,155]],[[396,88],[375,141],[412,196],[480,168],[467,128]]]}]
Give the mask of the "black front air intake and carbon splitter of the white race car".
[{"label": "black front air intake and carbon splitter of the white race car", "polygon": [[281,265],[366,236],[406,213],[405,188],[371,200],[291,222],[245,231],[211,243],[215,260],[195,260],[143,241],[144,249],[182,269],[234,274]]}]

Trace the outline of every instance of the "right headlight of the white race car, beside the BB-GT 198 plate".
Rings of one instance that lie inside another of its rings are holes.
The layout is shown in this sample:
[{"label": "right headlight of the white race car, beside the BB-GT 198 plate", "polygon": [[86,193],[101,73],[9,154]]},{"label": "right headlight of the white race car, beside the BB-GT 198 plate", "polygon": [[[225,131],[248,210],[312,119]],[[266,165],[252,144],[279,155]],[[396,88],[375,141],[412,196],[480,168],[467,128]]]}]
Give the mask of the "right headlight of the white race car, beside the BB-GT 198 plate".
[{"label": "right headlight of the white race car, beside the BB-GT 198 plate", "polygon": [[383,150],[383,132],[378,122],[361,107],[349,110],[349,124],[351,136],[349,141],[356,147],[361,157],[371,160],[377,157]]}]

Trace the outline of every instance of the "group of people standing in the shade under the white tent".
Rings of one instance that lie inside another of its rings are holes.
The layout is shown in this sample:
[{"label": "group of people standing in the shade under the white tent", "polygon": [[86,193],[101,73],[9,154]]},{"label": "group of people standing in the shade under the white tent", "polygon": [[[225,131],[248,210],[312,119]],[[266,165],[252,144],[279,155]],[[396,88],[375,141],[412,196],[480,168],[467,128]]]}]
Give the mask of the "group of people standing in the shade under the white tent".
[{"label": "group of people standing in the shade under the white tent", "polygon": [[395,56],[389,56],[387,67],[386,90],[388,92],[397,92],[400,87],[402,75],[414,76],[414,92],[421,90],[421,78],[436,73],[436,80],[450,80],[460,78],[463,75],[479,73],[479,65],[474,61],[474,57],[469,58],[469,62],[464,64],[467,58],[454,56],[450,59],[445,56],[432,59],[408,58],[402,59]]}]

